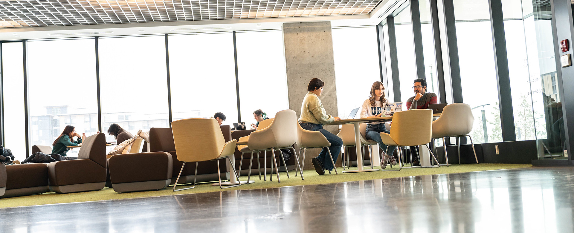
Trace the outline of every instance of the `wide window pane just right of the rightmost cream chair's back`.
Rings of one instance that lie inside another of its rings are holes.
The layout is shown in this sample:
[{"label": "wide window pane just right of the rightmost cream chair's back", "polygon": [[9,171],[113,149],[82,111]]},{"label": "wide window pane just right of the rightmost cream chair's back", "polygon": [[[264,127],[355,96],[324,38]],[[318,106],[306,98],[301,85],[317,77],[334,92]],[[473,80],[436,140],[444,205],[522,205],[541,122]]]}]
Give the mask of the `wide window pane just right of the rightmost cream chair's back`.
[{"label": "wide window pane just right of the rightmost cream chair's back", "polygon": [[463,102],[475,116],[475,143],[502,141],[488,1],[454,1]]}]

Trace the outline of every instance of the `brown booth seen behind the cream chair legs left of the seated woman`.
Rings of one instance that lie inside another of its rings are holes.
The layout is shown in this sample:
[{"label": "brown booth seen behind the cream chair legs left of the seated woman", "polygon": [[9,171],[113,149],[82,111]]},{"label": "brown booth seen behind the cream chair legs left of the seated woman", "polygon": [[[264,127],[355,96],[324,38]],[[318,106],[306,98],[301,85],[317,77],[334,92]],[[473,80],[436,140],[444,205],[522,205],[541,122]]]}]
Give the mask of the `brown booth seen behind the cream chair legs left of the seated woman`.
[{"label": "brown booth seen behind the cream chair legs left of the seated woman", "polygon": [[[255,130],[235,130],[233,131],[233,133],[231,134],[231,139],[236,139],[237,141],[239,141],[239,138],[241,137],[245,137],[248,136],[249,134],[251,134],[251,132],[253,132]],[[225,135],[225,134],[224,134]],[[294,145],[293,145],[294,146]],[[291,152],[293,153],[293,152]],[[265,164],[267,166],[267,174],[269,174],[271,172],[271,152],[267,152],[267,156],[266,156],[266,162],[263,162],[263,155],[265,153],[260,152],[259,153],[259,164],[261,165],[261,174],[263,174],[263,164]],[[282,166],[283,161],[281,160],[281,158],[279,158],[280,156],[280,152],[275,152],[275,158],[276,161],[279,161],[279,165],[281,165],[281,167],[279,167],[279,170],[281,172],[285,172],[285,168]],[[287,169],[288,170],[294,170],[295,169],[295,156],[291,156],[291,158],[289,158],[289,160],[285,161],[287,164]],[[240,176],[246,176],[247,173],[249,173],[249,160],[251,158],[251,153],[245,153],[243,154],[243,162],[241,163],[241,174],[239,174]],[[239,162],[241,162],[241,152],[235,148],[235,168],[239,169]],[[251,174],[259,174],[259,170],[257,169],[257,154],[253,155],[253,164],[251,165]]]}]

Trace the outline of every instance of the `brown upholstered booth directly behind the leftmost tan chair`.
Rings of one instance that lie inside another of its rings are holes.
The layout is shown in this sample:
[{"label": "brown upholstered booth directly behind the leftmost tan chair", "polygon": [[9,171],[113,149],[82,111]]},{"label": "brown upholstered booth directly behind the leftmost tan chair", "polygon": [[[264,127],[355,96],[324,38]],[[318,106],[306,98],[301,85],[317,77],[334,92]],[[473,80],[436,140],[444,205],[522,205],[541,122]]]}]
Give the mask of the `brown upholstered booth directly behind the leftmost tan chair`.
[{"label": "brown upholstered booth directly behind the leftmost tan chair", "polygon": [[[223,137],[226,141],[231,140],[231,127],[220,126],[222,129]],[[175,184],[177,176],[181,170],[183,162],[177,160],[176,146],[173,141],[173,132],[171,128],[152,128],[149,130],[149,149],[152,152],[167,152],[172,156],[173,169],[171,184]],[[224,180],[229,179],[229,172],[225,160],[219,161],[204,161],[199,162],[197,168],[197,182],[218,181],[217,164],[219,162],[221,168],[221,177]],[[193,175],[195,174],[195,162],[185,164],[185,168],[181,173],[178,184],[191,184],[193,182]]]}]

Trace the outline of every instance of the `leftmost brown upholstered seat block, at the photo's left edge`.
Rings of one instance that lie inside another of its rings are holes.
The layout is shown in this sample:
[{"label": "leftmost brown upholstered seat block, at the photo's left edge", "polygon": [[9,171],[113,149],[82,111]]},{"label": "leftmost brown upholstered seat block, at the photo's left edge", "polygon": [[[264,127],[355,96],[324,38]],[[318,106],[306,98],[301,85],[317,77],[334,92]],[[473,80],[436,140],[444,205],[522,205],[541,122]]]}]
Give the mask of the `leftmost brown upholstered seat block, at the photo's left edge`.
[{"label": "leftmost brown upholstered seat block, at the photo's left edge", "polygon": [[14,164],[5,166],[5,169],[6,192],[2,198],[48,192],[46,164]]}]

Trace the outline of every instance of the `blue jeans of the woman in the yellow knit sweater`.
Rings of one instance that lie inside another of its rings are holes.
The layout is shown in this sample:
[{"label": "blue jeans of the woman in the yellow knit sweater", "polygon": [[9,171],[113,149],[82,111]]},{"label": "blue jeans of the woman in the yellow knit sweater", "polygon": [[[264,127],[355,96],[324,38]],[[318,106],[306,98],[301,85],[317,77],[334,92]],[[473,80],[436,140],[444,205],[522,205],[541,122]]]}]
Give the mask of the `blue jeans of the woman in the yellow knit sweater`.
[{"label": "blue jeans of the woman in the yellow knit sweater", "polygon": [[[299,123],[299,125],[301,125],[301,127],[306,130],[321,132],[325,136],[325,138],[327,138],[327,141],[331,143],[331,146],[329,146],[328,148],[329,151],[331,152],[331,156],[333,156],[333,161],[337,161],[339,153],[341,152],[341,146],[343,146],[343,140],[341,138],[323,129],[323,125],[307,123],[307,122],[301,122]],[[331,163],[331,159],[328,157],[328,152],[325,148],[321,150],[321,153],[319,153],[319,156],[317,156],[316,158],[321,162],[321,164],[323,164],[324,169],[327,169],[329,171],[333,170],[333,164]]]}]

